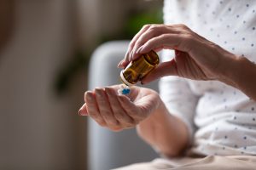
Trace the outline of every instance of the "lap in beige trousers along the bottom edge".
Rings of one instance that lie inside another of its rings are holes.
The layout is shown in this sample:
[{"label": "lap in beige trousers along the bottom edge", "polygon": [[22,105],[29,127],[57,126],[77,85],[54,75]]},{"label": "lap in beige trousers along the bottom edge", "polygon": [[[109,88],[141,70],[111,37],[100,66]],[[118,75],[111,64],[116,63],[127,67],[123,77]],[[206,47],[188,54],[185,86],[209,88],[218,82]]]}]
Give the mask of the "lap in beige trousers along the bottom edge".
[{"label": "lap in beige trousers along the bottom edge", "polygon": [[256,156],[206,156],[183,157],[172,160],[163,158],[132,164],[114,170],[255,170]]}]

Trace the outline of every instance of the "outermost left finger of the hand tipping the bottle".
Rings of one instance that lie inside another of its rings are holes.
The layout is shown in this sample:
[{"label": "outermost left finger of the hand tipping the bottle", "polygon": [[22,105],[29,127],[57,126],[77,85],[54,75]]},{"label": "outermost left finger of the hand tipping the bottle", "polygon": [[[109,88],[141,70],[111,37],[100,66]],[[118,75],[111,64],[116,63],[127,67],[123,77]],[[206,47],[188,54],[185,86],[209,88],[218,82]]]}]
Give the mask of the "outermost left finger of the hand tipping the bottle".
[{"label": "outermost left finger of the hand tipping the bottle", "polygon": [[130,63],[130,55],[131,55],[131,51],[135,45],[135,42],[137,42],[137,39],[143,34],[144,31],[147,31],[148,28],[150,27],[151,25],[145,25],[143,26],[143,28],[137,32],[137,34],[132,38],[130,44],[129,44],[129,48],[125,54],[125,59],[122,60],[120,63],[119,63],[119,67],[125,67],[126,65],[128,65]]}]

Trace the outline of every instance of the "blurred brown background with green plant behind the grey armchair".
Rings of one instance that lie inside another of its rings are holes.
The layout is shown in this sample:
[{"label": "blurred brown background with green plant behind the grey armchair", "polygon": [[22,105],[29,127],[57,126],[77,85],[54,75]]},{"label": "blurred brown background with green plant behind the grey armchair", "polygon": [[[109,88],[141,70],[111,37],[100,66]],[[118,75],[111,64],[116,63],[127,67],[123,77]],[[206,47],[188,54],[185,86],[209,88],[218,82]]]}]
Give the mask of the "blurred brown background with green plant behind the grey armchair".
[{"label": "blurred brown background with green plant behind the grey armchair", "polygon": [[90,55],[162,22],[161,0],[0,1],[0,169],[88,169]]}]

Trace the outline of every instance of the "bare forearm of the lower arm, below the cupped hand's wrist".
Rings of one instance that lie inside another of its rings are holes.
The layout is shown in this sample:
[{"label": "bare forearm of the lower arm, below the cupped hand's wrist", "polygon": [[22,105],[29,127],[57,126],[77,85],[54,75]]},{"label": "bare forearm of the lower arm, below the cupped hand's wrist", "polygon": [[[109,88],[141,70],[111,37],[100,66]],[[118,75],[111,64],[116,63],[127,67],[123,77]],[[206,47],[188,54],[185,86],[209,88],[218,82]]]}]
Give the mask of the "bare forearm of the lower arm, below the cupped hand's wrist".
[{"label": "bare forearm of the lower arm, below the cupped hand's wrist", "polygon": [[166,156],[179,155],[189,142],[186,125],[169,114],[162,101],[154,113],[137,125],[137,133]]}]

